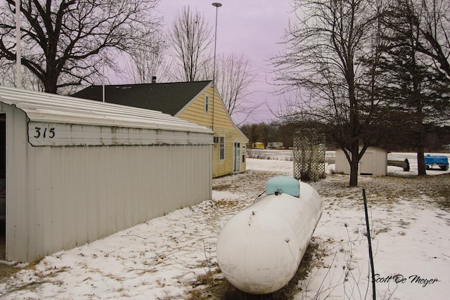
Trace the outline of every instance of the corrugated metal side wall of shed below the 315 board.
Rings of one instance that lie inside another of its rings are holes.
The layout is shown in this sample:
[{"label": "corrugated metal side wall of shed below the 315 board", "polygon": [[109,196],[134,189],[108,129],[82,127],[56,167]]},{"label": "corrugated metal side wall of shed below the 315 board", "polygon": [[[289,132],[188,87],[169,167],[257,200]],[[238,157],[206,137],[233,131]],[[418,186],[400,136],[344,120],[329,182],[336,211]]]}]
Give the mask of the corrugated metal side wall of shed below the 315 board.
[{"label": "corrugated metal side wall of shed below the 315 board", "polygon": [[8,165],[8,260],[70,249],[211,197],[210,145],[27,148],[26,166]]}]

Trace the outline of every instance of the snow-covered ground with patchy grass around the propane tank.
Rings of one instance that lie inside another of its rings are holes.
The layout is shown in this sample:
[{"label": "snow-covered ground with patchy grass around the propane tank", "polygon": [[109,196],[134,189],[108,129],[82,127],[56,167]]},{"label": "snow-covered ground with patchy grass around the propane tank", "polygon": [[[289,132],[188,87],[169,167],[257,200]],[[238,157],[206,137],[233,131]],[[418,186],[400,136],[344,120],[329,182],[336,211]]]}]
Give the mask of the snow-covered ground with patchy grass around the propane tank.
[{"label": "snow-covered ground with patchy grass around the propane tank", "polygon": [[[371,299],[362,188],[369,205],[377,298],[446,298],[450,213],[437,201],[449,202],[450,195],[439,199],[433,189],[448,185],[450,177],[417,178],[415,168],[411,162],[410,172],[389,167],[387,177],[360,176],[357,188],[349,188],[348,176],[339,174],[311,183],[323,198],[323,214],[311,241],[312,268],[298,282],[295,299]],[[281,174],[292,176],[293,162],[248,159],[247,173],[213,180],[212,200],[19,265],[17,273],[0,279],[0,298],[188,299],[195,289],[207,291],[207,285],[195,282],[217,268],[221,226],[264,192],[268,178]]]}]

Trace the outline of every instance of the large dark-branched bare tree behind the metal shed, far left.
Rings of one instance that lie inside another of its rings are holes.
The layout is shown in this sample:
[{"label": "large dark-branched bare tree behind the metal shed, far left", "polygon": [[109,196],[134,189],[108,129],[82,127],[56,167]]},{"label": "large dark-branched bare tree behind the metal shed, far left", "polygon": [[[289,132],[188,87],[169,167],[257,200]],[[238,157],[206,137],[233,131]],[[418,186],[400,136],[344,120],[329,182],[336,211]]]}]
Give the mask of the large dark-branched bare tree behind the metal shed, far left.
[{"label": "large dark-branched bare tree behind the metal shed, far left", "polygon": [[[143,48],[160,18],[153,15],[158,0],[21,1],[23,67],[44,85],[44,91],[91,82],[102,57],[115,70],[109,50]],[[0,13],[0,60],[15,61],[15,0]],[[101,54],[101,56],[100,56]]]}]

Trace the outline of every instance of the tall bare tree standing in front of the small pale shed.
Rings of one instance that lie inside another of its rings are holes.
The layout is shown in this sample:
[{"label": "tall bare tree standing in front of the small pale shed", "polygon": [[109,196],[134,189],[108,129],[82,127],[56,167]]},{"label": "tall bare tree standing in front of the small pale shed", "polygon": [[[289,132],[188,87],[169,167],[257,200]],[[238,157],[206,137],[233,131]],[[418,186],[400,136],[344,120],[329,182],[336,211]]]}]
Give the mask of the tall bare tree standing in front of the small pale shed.
[{"label": "tall bare tree standing in front of the small pale shed", "polygon": [[383,136],[376,126],[385,109],[383,100],[365,90],[375,88],[371,83],[377,73],[361,63],[380,55],[376,16],[381,4],[295,0],[294,5],[298,15],[286,35],[288,50],[273,61],[281,92],[294,89],[300,97],[288,103],[282,115],[287,122],[314,126],[344,150],[349,185],[357,185],[359,159]]}]

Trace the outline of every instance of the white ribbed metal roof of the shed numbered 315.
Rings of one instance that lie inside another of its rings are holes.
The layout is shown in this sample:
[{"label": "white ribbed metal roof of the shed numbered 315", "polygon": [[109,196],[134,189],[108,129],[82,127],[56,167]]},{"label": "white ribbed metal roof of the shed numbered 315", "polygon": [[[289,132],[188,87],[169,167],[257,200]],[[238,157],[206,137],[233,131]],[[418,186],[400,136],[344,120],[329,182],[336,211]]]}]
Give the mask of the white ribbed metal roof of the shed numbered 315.
[{"label": "white ribbed metal roof of the shed numbered 315", "polygon": [[30,121],[212,133],[205,126],[155,110],[0,86],[0,102],[23,110]]}]

